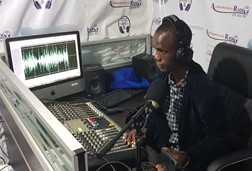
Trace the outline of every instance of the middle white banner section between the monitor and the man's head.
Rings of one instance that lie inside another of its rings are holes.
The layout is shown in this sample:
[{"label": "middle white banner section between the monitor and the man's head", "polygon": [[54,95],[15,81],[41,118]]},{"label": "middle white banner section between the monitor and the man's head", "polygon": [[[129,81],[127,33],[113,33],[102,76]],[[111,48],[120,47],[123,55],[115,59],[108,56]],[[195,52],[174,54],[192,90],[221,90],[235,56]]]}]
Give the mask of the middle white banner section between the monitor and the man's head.
[{"label": "middle white banner section between the monitor and the man's head", "polygon": [[85,6],[89,41],[150,33],[152,0],[86,0]]}]

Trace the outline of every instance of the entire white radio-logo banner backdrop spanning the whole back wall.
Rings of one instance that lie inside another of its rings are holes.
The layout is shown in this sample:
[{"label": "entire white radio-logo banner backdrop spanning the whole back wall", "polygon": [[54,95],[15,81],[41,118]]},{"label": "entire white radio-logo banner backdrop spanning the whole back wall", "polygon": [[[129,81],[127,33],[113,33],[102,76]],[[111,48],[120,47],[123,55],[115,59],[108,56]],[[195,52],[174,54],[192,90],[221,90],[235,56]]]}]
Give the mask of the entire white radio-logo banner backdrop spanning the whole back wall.
[{"label": "entire white radio-logo banner backdrop spanning the whole back wall", "polygon": [[193,59],[207,71],[220,42],[252,49],[251,7],[245,0],[0,0],[0,54],[10,36],[79,30],[85,42],[153,35],[164,16],[176,14],[192,30]]}]

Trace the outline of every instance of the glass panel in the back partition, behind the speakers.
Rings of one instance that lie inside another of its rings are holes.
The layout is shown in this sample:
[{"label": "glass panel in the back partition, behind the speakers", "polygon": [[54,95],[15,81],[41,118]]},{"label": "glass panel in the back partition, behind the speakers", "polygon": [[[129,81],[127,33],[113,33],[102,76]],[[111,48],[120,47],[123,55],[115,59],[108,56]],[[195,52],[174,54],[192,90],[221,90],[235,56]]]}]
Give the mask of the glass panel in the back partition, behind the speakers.
[{"label": "glass panel in the back partition, behind the speakers", "polygon": [[[111,40],[113,41],[113,40]],[[146,53],[146,38],[82,45],[83,64],[100,63],[103,67],[131,61]]]}]

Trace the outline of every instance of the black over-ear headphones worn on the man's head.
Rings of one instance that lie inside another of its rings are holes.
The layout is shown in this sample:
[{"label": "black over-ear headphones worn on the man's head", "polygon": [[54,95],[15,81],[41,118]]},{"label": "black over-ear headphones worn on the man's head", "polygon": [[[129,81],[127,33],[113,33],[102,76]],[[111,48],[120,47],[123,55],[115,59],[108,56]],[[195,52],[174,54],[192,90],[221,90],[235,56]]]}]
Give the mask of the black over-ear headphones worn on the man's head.
[{"label": "black over-ear headphones worn on the man's head", "polygon": [[[174,28],[179,41],[179,49],[176,52],[176,59],[181,64],[188,64],[193,57],[193,50],[190,48],[190,40],[187,40],[187,33],[191,31],[187,24],[176,15],[164,17],[162,23],[170,22]],[[188,27],[188,30],[186,30]]]}]

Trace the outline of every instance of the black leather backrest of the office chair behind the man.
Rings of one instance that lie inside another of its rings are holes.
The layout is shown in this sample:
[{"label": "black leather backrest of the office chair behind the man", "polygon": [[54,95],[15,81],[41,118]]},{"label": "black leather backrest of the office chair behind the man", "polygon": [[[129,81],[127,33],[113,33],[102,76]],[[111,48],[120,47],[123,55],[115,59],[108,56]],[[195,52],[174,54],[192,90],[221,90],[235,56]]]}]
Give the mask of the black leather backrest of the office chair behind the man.
[{"label": "black leather backrest of the office chair behind the man", "polygon": [[252,146],[252,51],[219,43],[213,51],[208,75],[223,98],[231,131],[231,148]]}]

